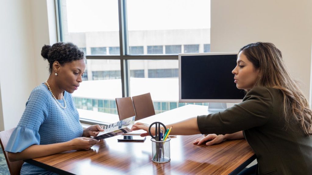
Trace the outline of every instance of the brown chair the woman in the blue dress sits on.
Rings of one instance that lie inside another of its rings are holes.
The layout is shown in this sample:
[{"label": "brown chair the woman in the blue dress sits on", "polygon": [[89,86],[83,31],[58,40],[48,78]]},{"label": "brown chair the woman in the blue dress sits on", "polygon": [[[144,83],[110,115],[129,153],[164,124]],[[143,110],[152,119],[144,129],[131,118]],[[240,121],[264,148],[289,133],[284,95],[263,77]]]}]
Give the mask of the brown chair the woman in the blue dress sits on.
[{"label": "brown chair the woman in the blue dress sits on", "polygon": [[4,151],[5,147],[7,146],[7,142],[9,141],[9,138],[12,135],[14,129],[15,128],[0,132],[0,144],[11,175],[20,174],[22,165],[24,163],[24,161],[22,160],[10,162],[9,159],[7,158],[7,152]]}]

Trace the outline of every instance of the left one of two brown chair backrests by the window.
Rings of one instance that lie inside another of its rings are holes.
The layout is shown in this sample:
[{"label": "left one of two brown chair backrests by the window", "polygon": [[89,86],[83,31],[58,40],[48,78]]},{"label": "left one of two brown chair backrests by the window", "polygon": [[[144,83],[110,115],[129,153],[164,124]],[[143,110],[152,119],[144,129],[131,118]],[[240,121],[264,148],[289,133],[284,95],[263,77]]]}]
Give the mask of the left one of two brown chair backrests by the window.
[{"label": "left one of two brown chair backrests by the window", "polygon": [[119,120],[135,116],[131,97],[116,98]]}]

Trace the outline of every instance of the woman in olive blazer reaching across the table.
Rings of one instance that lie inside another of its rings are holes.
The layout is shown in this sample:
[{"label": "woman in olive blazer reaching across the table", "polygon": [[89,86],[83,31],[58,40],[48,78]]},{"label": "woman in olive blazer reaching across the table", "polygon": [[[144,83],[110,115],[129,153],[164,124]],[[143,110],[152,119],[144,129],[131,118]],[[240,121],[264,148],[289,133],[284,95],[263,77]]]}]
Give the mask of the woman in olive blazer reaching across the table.
[{"label": "woman in olive blazer reaching across the table", "polygon": [[[207,145],[245,138],[257,156],[255,174],[312,175],[312,112],[286,70],[280,50],[271,43],[246,45],[232,73],[236,87],[246,91],[243,102],[168,125],[173,126],[170,134],[212,134],[194,141],[202,144],[212,139]],[[133,130],[148,132],[148,127],[136,123]]]}]

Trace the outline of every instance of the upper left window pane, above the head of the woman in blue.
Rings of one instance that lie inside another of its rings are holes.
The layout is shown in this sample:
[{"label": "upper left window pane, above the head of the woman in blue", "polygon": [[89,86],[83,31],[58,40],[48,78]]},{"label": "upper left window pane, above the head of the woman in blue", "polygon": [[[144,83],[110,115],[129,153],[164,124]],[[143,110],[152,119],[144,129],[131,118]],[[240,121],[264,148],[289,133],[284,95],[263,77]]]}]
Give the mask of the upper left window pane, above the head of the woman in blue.
[{"label": "upper left window pane, above the head of the woman in blue", "polygon": [[62,41],[88,55],[120,54],[118,0],[60,0],[60,7]]}]

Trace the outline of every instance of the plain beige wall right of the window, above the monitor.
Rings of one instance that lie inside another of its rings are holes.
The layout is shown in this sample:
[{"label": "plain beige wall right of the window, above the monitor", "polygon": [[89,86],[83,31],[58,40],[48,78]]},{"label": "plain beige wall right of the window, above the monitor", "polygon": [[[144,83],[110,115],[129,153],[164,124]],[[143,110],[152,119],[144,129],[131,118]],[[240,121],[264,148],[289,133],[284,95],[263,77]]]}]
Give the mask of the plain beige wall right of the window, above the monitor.
[{"label": "plain beige wall right of the window, above the monitor", "polygon": [[237,52],[252,42],[272,42],[309,98],[311,9],[310,0],[212,0],[211,51]]}]

